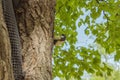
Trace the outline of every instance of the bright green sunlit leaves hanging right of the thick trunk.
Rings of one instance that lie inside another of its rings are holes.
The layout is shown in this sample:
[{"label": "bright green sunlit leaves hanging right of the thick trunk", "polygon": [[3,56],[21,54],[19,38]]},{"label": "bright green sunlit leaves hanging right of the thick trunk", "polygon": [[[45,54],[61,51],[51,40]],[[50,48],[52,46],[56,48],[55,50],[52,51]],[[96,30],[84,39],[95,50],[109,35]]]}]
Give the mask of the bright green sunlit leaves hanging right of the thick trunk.
[{"label": "bright green sunlit leaves hanging right of the thick trunk", "polygon": [[[86,17],[79,18],[80,15]],[[104,22],[97,22],[99,17]],[[79,18],[79,23],[76,21]],[[65,44],[54,48],[53,77],[80,79],[84,70],[103,76],[103,71],[110,75],[111,68],[101,62],[101,53],[93,47],[76,47],[78,41],[77,26],[86,25],[85,34],[96,37],[97,43],[110,54],[115,52],[115,60],[120,59],[120,1],[119,0],[57,0],[55,16],[55,35],[65,34]]]}]

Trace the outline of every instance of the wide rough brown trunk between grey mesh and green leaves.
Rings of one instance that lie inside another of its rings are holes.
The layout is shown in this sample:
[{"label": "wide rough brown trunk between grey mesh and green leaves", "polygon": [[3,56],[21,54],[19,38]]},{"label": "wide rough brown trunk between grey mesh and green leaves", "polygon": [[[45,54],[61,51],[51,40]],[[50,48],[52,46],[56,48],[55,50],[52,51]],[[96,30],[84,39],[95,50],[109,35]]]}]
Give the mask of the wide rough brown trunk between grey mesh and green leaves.
[{"label": "wide rough brown trunk between grey mesh and green leaves", "polygon": [[52,80],[55,0],[21,0],[16,9],[25,80]]}]

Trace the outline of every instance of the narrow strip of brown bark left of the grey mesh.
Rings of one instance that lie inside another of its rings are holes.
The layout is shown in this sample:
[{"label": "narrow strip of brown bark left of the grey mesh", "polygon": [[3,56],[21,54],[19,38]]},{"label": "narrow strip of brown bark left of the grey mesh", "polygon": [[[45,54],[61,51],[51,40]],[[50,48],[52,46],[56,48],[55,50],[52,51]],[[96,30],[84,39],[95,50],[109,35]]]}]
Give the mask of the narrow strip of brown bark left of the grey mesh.
[{"label": "narrow strip of brown bark left of the grey mesh", "polygon": [[0,0],[0,80],[14,80],[11,65],[10,40],[4,23]]}]

